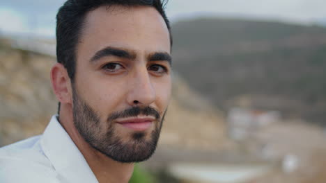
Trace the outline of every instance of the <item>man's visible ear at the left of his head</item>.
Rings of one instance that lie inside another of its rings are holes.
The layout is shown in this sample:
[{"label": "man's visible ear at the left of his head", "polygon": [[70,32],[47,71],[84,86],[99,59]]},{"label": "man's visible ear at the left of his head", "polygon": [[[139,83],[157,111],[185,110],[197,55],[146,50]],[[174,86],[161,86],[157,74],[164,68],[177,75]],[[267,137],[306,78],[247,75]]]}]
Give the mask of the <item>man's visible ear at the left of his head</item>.
[{"label": "man's visible ear at the left of his head", "polygon": [[60,103],[72,103],[71,82],[67,69],[61,63],[56,63],[51,69],[52,89]]}]

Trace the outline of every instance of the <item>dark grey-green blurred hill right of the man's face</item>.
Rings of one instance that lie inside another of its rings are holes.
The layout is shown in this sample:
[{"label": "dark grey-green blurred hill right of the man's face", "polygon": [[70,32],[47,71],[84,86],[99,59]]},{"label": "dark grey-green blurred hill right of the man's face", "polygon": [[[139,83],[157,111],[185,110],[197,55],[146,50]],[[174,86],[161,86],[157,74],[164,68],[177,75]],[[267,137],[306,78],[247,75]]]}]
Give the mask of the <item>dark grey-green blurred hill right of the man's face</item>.
[{"label": "dark grey-green blurred hill right of the man's face", "polygon": [[216,107],[326,125],[326,28],[213,18],[172,28],[174,68]]}]

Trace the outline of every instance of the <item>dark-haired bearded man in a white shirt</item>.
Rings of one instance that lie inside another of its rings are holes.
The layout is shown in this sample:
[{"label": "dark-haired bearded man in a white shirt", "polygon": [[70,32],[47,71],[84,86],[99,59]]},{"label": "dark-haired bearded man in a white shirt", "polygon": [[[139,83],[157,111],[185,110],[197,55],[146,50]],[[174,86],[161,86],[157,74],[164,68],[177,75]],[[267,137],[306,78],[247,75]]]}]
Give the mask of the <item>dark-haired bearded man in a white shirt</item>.
[{"label": "dark-haired bearded man in a white shirt", "polygon": [[0,150],[0,182],[128,182],[155,151],[171,96],[160,0],[68,0],[51,81],[59,114]]}]

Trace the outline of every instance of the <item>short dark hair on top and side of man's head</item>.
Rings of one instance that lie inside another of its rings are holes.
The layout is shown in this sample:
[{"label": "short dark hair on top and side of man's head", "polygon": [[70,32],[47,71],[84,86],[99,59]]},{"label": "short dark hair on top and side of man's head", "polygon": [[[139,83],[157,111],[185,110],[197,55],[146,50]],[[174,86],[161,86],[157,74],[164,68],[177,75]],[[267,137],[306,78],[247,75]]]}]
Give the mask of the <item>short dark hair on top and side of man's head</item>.
[{"label": "short dark hair on top and side of man's head", "polygon": [[68,0],[56,15],[56,58],[67,69],[71,82],[74,82],[76,69],[76,47],[87,12],[100,6],[153,6],[162,15],[169,29],[171,46],[171,28],[161,0]]}]

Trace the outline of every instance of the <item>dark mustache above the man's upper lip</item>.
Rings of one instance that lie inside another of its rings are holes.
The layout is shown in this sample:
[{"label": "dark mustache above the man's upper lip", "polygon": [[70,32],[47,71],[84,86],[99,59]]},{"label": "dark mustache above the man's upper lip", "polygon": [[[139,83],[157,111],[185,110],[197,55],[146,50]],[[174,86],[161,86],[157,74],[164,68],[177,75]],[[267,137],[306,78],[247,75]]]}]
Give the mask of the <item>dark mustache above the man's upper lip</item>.
[{"label": "dark mustache above the man's upper lip", "polygon": [[145,116],[154,116],[156,120],[160,119],[160,113],[157,112],[153,107],[130,107],[127,110],[123,110],[122,112],[114,112],[111,114],[107,121],[114,121],[119,118],[127,118],[127,117],[136,117],[139,114],[143,114]]}]

